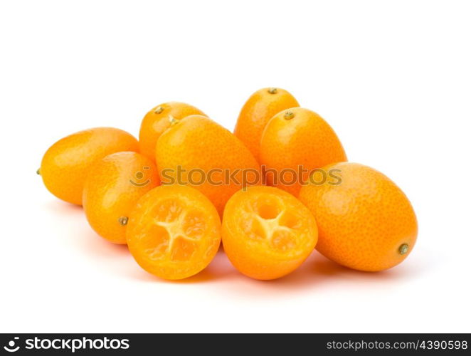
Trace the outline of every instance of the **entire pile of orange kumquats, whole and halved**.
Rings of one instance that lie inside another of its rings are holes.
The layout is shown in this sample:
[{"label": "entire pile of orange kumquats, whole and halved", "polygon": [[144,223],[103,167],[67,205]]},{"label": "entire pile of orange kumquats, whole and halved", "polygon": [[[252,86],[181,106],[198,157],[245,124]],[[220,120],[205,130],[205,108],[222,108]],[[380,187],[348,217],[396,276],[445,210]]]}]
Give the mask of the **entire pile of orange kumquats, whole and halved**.
[{"label": "entire pile of orange kumquats, whole and halved", "polygon": [[280,88],[253,93],[234,132],[177,102],[147,112],[139,140],[112,127],[76,132],[46,151],[38,174],[83,206],[103,239],[171,280],[206,268],[221,242],[240,273],[260,280],[295,271],[314,248],[382,271],[418,233],[401,189],[347,162],[332,127]]}]

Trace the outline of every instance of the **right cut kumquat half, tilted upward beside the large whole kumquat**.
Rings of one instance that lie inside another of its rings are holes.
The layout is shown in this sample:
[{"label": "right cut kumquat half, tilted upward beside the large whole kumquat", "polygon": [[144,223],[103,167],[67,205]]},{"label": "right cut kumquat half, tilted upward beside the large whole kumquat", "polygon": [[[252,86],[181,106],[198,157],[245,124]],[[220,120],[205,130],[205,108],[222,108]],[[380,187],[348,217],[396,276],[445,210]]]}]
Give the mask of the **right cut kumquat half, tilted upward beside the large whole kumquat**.
[{"label": "right cut kumquat half, tilted upward beside the large whole kumquat", "polygon": [[223,246],[241,273],[275,279],[295,271],[317,242],[309,209],[274,187],[248,187],[235,193],[223,216]]}]

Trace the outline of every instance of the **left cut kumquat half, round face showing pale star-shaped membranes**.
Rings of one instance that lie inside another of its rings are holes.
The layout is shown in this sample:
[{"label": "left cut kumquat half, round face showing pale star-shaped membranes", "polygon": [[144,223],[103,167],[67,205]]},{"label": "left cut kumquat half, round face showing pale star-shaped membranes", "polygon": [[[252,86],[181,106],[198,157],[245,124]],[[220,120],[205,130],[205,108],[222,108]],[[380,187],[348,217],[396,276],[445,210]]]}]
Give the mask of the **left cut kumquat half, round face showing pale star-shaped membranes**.
[{"label": "left cut kumquat half, round face showing pale star-shaped membranes", "polygon": [[127,245],[145,271],[165,279],[194,276],[221,243],[221,221],[211,201],[194,188],[160,186],[137,201],[127,224]]}]

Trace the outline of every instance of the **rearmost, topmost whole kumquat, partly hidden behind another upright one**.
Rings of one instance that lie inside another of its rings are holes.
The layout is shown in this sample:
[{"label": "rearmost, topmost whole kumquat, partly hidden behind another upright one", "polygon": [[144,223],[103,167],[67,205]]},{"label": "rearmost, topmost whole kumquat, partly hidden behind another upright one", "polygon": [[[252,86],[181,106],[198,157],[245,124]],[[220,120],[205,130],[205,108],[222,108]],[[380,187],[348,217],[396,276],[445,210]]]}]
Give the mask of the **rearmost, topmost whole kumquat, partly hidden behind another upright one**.
[{"label": "rearmost, topmost whole kumquat, partly hidden behind another upright one", "polygon": [[260,162],[260,139],[268,121],[278,112],[300,106],[294,96],[280,88],[263,88],[250,95],[240,110],[234,135]]}]

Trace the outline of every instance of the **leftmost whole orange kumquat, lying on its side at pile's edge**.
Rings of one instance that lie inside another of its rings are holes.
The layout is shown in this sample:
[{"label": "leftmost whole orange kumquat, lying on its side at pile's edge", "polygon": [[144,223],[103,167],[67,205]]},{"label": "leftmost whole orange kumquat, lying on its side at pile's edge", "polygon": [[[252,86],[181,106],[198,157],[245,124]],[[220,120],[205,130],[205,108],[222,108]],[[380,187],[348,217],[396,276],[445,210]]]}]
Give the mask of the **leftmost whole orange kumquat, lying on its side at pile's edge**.
[{"label": "leftmost whole orange kumquat, lying on its side at pile's edge", "polygon": [[82,205],[83,184],[92,164],[115,152],[138,150],[139,143],[126,131],[114,127],[83,130],[49,147],[41,162],[41,177],[55,197]]}]

